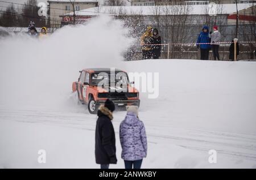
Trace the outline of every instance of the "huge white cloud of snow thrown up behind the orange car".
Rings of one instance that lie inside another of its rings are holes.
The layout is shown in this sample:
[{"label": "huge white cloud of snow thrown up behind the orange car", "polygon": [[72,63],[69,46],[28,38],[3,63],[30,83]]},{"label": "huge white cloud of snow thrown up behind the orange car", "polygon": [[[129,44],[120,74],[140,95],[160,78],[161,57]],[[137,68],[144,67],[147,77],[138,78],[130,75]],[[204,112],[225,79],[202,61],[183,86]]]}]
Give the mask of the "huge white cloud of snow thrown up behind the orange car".
[{"label": "huge white cloud of snow thrown up behind the orange car", "polygon": [[118,67],[133,38],[129,29],[109,16],[84,25],[66,26],[39,40],[19,34],[0,39],[0,102],[3,105],[65,103],[79,70]]}]

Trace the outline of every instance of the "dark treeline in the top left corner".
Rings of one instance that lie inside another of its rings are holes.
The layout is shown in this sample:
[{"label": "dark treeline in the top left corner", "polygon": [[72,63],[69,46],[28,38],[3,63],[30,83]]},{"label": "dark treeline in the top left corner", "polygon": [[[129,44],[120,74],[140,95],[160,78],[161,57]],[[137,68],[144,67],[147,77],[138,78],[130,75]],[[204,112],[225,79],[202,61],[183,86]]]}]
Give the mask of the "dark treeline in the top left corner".
[{"label": "dark treeline in the top left corner", "polygon": [[46,16],[39,16],[40,7],[37,5],[37,0],[27,0],[24,5],[9,3],[5,10],[0,10],[0,26],[28,27],[31,20],[36,27],[47,26]]}]

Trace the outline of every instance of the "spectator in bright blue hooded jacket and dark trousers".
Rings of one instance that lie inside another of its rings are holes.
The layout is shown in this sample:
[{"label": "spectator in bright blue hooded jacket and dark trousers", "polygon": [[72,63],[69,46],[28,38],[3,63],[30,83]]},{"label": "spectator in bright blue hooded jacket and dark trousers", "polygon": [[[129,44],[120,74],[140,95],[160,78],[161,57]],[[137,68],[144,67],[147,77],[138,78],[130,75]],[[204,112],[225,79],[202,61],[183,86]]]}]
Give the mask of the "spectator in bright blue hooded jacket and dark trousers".
[{"label": "spectator in bright blue hooded jacket and dark trousers", "polygon": [[[209,43],[209,44],[199,44],[199,43]],[[202,32],[197,38],[196,42],[197,48],[200,48],[200,59],[208,60],[209,59],[209,49],[210,49],[210,37],[209,37],[209,27],[204,26]]]}]

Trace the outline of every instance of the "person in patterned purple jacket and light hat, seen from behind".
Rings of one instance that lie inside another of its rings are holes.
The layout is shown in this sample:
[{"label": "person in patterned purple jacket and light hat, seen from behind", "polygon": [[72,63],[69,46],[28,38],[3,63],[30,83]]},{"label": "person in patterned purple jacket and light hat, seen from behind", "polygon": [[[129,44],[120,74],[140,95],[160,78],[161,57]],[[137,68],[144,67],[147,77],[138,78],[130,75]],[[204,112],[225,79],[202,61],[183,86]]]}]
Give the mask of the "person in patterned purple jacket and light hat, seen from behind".
[{"label": "person in patterned purple jacket and light hat, seen from behind", "polygon": [[126,106],[127,114],[119,128],[122,159],[126,169],[140,169],[147,156],[147,136],[144,124],[138,118],[138,106]]}]

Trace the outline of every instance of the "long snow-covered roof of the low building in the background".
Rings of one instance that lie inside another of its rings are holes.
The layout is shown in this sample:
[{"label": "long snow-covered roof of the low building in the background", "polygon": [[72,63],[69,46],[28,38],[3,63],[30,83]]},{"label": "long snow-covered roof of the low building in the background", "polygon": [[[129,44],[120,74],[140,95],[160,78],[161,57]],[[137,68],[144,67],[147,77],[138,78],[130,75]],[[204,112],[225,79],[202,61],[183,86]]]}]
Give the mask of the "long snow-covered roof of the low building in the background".
[{"label": "long snow-covered roof of the low building in the background", "polygon": [[[183,5],[186,6],[186,5]],[[238,11],[248,8],[252,6],[252,3],[240,3],[237,5]],[[100,7],[92,7],[86,8],[85,10],[76,11],[75,14],[77,16],[97,16],[100,14],[109,14],[109,15],[119,15],[119,14],[127,14],[127,15],[155,15],[156,8],[159,10],[165,10],[167,8],[179,8],[180,6],[100,6]],[[232,14],[236,12],[236,4],[223,4],[216,5],[217,14]],[[190,15],[203,15],[208,13],[209,6],[208,5],[189,5],[188,14]],[[169,10],[170,13],[172,12]],[[162,13],[160,13],[161,15]],[[70,12],[65,15],[73,15],[73,12]],[[164,13],[162,15],[165,15]]]}]

